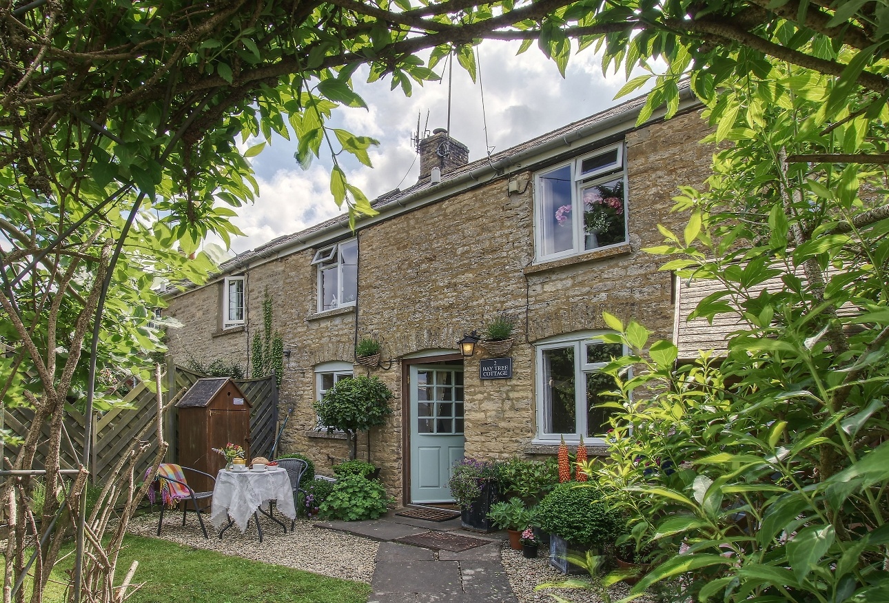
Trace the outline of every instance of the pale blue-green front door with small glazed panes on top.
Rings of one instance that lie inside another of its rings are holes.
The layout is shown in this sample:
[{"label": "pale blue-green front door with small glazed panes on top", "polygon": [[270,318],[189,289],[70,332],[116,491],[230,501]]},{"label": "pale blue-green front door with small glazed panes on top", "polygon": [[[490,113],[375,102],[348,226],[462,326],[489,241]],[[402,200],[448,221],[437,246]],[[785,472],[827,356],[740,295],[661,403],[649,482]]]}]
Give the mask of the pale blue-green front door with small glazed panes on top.
[{"label": "pale blue-green front door with small glazed panes on top", "polygon": [[411,502],[450,503],[463,458],[463,367],[411,366]]}]

